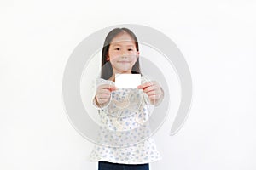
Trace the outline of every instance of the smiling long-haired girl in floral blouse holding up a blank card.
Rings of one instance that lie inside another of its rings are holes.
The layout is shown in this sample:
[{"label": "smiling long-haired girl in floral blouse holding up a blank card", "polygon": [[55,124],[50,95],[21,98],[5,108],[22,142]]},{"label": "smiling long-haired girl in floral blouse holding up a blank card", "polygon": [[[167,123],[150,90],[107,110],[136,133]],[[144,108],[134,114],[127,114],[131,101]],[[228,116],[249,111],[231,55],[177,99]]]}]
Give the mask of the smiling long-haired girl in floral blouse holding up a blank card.
[{"label": "smiling long-haired girl in floral blouse holding up a blank card", "polygon": [[164,92],[144,76],[137,89],[116,88],[116,74],[142,75],[137,37],[127,28],[110,31],[102,48],[102,74],[93,99],[102,131],[90,161],[98,161],[98,170],[148,170],[148,163],[161,159],[150,138],[149,106],[160,105]]}]

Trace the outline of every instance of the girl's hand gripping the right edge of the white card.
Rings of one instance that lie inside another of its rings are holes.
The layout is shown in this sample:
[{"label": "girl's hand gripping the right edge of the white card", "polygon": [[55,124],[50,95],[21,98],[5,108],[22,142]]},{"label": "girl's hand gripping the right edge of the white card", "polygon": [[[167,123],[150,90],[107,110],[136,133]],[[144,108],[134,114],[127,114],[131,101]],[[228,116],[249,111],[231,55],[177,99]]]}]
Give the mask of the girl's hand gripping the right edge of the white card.
[{"label": "girl's hand gripping the right edge of the white card", "polygon": [[163,95],[163,91],[160,87],[160,84],[156,81],[145,82],[142,85],[137,87],[138,89],[143,89],[143,92],[148,94],[151,104],[158,103],[158,100]]}]

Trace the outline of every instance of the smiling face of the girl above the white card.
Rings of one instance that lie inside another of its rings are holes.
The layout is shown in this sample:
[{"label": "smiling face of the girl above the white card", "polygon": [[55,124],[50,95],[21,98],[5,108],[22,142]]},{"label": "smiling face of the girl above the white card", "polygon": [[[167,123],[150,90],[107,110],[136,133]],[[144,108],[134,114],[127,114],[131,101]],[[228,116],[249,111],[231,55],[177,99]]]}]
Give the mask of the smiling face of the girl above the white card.
[{"label": "smiling face of the girl above the white card", "polygon": [[131,74],[138,55],[134,40],[124,32],[113,38],[109,45],[107,60],[110,61],[114,74]]}]

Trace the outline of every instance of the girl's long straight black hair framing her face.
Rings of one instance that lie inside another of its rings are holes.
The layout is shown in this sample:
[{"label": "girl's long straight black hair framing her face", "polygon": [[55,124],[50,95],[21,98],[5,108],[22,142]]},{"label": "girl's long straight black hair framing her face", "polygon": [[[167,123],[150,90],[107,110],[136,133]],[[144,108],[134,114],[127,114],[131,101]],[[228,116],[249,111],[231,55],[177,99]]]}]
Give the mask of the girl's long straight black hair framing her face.
[{"label": "girl's long straight black hair framing her face", "polygon": [[[129,30],[128,28],[115,28],[112,31],[110,31],[105,38],[104,46],[102,48],[102,72],[101,72],[101,78],[108,80],[113,75],[113,68],[110,63],[110,61],[107,60],[108,57],[108,49],[110,46],[110,43],[112,42],[113,38],[116,37],[119,33],[126,32],[130,35],[130,37],[135,42],[135,46],[137,51],[139,51],[137,37],[135,34]],[[131,74],[142,74],[140,69],[140,63],[139,58],[137,58],[136,63],[132,66]]]}]

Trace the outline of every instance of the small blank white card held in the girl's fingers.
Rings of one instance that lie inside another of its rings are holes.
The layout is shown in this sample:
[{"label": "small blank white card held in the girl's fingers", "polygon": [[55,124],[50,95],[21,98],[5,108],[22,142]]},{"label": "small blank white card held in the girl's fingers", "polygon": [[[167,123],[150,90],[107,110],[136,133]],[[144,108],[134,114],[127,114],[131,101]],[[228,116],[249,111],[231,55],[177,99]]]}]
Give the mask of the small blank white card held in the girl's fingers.
[{"label": "small blank white card held in the girl's fingers", "polygon": [[115,74],[117,88],[137,88],[139,85],[141,85],[140,74]]}]

